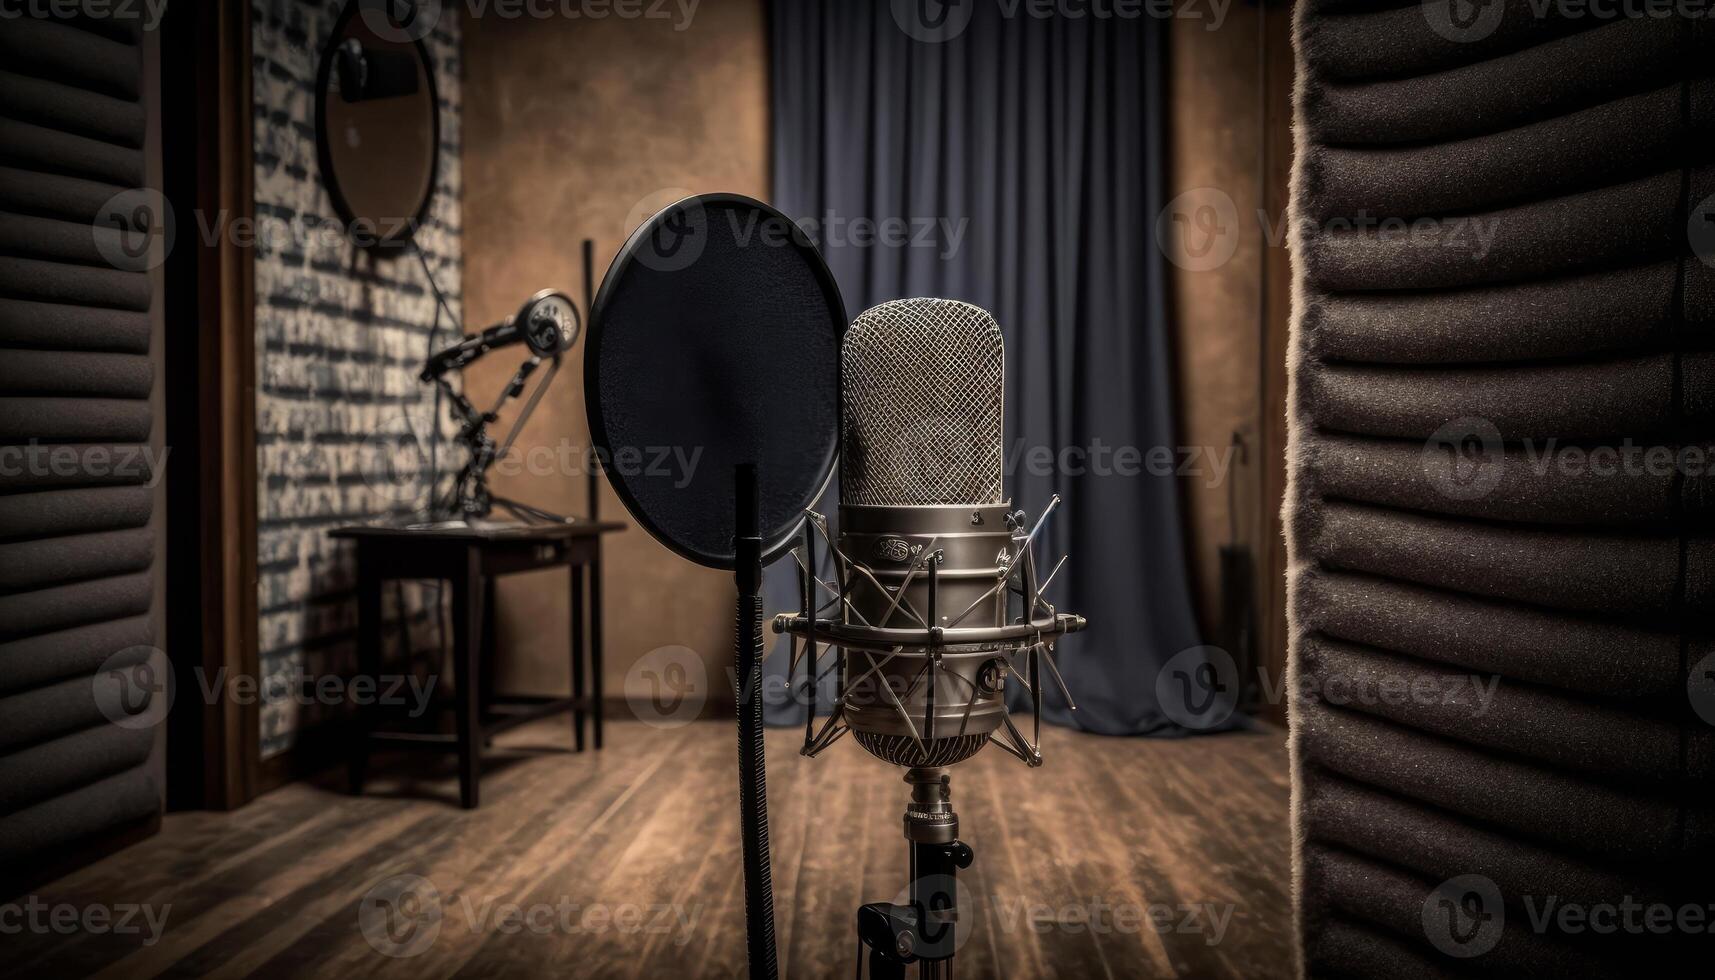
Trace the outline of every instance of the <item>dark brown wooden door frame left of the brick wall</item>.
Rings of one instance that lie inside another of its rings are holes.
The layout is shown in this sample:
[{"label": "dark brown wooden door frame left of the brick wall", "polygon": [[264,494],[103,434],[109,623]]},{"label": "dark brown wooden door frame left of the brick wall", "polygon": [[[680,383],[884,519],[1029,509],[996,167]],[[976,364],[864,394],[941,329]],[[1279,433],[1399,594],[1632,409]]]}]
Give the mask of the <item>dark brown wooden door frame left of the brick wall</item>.
[{"label": "dark brown wooden door frame left of the brick wall", "polygon": [[[166,263],[168,807],[257,795],[256,273],[249,3],[175,3],[163,31]],[[249,690],[256,690],[250,685]]]}]

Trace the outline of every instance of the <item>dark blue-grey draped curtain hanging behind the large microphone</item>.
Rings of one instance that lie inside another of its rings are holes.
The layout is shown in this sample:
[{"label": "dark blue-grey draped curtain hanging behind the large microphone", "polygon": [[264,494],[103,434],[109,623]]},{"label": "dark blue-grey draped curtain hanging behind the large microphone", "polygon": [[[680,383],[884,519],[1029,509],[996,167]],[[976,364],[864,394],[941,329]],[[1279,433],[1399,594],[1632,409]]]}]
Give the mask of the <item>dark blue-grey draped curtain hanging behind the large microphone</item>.
[{"label": "dark blue-grey draped curtain hanging behind the large microphone", "polygon": [[[773,204],[821,244],[851,316],[936,295],[1000,319],[1007,493],[1032,515],[1063,498],[1043,554],[1072,560],[1048,597],[1089,618],[1060,647],[1077,711],[1051,692],[1046,712],[1176,735],[1156,681],[1199,637],[1175,477],[1142,462],[1175,446],[1154,247],[1164,29],[1005,10],[775,2]],[[797,608],[791,561],[768,592],[773,609]],[[801,723],[785,662],[770,657],[770,717]]]}]

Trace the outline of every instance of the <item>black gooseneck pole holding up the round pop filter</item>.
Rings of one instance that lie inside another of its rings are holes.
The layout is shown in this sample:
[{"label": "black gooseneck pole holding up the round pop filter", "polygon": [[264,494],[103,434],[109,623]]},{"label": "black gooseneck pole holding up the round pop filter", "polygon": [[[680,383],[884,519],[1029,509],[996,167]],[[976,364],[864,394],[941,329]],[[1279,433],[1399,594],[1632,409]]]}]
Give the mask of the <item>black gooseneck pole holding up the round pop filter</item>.
[{"label": "black gooseneck pole holding up the round pop filter", "polygon": [[768,789],[761,726],[761,498],[756,465],[734,472],[734,578],[737,580],[739,832],[744,848],[744,930],[751,980],[775,980],[773,880],[768,868]]}]

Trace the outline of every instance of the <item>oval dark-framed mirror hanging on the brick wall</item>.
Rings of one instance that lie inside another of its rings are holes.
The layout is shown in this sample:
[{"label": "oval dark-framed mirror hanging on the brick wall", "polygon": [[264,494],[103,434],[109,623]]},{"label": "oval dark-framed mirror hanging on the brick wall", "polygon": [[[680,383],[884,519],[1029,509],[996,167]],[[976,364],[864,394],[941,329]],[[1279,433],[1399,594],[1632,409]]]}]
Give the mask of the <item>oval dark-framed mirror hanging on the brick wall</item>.
[{"label": "oval dark-framed mirror hanging on the brick wall", "polygon": [[[322,50],[316,79],[316,144],[322,184],[364,247],[412,240],[434,194],[441,113],[422,41],[377,31],[348,3]],[[386,22],[381,22],[386,27]]]}]

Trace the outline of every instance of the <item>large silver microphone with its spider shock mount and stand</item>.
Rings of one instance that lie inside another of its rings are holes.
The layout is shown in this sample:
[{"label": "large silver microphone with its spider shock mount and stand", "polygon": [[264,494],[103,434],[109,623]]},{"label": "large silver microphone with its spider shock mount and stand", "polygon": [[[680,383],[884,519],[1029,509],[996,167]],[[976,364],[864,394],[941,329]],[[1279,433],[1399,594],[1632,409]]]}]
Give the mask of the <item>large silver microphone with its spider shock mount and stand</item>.
[{"label": "large silver microphone with its spider shock mount and stand", "polygon": [[[858,910],[871,980],[952,977],[959,947],[959,839],[947,767],[993,741],[1041,765],[1043,671],[1070,692],[1055,642],[1084,628],[1044,597],[1034,523],[1002,487],[1005,350],[988,312],[947,299],[864,311],[840,343],[840,532],[833,582],[816,575],[811,513],[799,585],[804,611],[773,628],[803,638],[809,712],[804,755],[847,731],[870,755],[906,767],[911,802],[909,903]],[[1055,566],[1058,570],[1058,565]],[[823,602],[823,594],[828,594]],[[839,697],[816,729],[818,644],[835,647]],[[1007,712],[1008,678],[1032,702],[1032,735]]]}]

